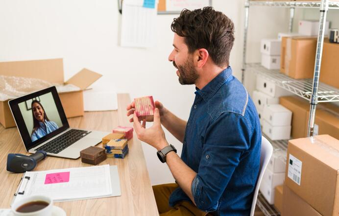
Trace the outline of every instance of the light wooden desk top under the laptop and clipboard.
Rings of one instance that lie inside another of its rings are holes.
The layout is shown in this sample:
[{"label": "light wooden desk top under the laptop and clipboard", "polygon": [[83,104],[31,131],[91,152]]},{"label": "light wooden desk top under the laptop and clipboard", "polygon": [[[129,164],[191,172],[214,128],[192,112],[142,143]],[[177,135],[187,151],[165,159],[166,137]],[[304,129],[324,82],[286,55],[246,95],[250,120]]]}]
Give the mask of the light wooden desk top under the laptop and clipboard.
[{"label": "light wooden desk top under the laptop and clipboard", "polygon": [[[69,119],[70,126],[110,132],[118,125],[131,125],[126,116],[126,106],[129,103],[128,94],[119,94],[118,111],[85,112],[83,117]],[[55,205],[63,208],[67,216],[158,216],[144,152],[135,133],[133,140],[128,142],[128,147],[129,153],[125,159],[107,158],[100,164],[118,166],[121,196],[57,202]],[[10,173],[6,170],[7,154],[28,155],[17,128],[4,129],[0,125],[0,153],[0,208],[10,208],[23,173]],[[81,163],[81,159],[47,157],[38,163],[34,171],[88,166],[92,165]]]}]

